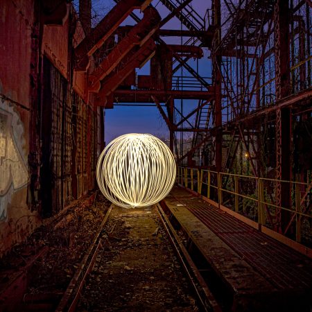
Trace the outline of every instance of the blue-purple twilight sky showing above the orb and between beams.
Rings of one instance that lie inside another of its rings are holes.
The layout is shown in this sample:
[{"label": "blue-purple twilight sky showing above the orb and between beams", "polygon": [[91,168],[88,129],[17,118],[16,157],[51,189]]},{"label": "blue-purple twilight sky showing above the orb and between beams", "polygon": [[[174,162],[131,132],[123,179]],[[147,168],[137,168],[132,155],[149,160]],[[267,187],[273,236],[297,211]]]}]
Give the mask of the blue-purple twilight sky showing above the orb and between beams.
[{"label": "blue-purple twilight sky showing above the orb and between beams", "polygon": [[[191,6],[193,10],[198,12],[198,15],[201,17],[205,16],[205,13],[208,8],[211,7],[211,1],[206,0],[193,0],[191,1]],[[76,10],[78,11],[78,0],[73,1]],[[115,2],[112,0],[92,0],[92,16],[93,24],[97,24],[111,8],[115,6]],[[166,17],[170,12],[169,10],[162,5],[161,1],[154,0],[152,4],[157,8],[159,15],[162,19]],[[134,11],[135,14],[139,17],[142,17],[139,10]],[[125,19],[122,25],[133,25],[135,21],[131,17]],[[162,28],[165,29],[187,29],[181,22],[173,17],[166,25]],[[171,44],[182,44],[180,37],[164,37],[164,41]],[[189,38],[183,38],[186,41]],[[190,60],[188,63],[197,70],[201,76],[207,77],[211,76],[210,62],[208,60],[209,51],[204,49],[204,57],[200,60]],[[138,74],[148,74],[149,73],[150,63],[142,69],[137,69]],[[176,73],[177,76],[189,76],[187,71],[179,69]],[[178,109],[181,110],[181,101],[176,100],[175,105]],[[195,107],[197,107],[198,101],[183,101],[183,114],[184,116],[191,112]],[[195,118],[195,116],[194,116]],[[177,114],[177,120],[180,119],[180,116]],[[185,125],[187,126],[187,125]],[[111,110],[105,110],[105,141],[108,144],[115,137],[123,135],[125,133],[137,132],[137,133],[150,133],[151,135],[157,135],[159,137],[168,137],[168,128],[165,121],[162,119],[157,107],[136,107],[136,106],[117,106],[114,105],[114,108]]]}]

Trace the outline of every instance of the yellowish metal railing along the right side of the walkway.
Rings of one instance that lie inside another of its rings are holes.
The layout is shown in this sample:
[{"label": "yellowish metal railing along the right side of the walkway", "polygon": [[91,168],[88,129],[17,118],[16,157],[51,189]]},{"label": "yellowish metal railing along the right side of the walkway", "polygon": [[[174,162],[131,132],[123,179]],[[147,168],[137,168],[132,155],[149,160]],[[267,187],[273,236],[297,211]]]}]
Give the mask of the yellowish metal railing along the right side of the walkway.
[{"label": "yellowish metal railing along the right side of the walkway", "polygon": [[[226,184],[223,184],[224,177],[229,177]],[[275,232],[279,231],[280,234],[281,227],[277,227],[274,222],[277,222],[277,216],[282,211],[286,211],[290,217],[283,234],[293,227],[295,235],[290,239],[297,243],[306,243],[303,240],[305,233],[302,232],[302,223],[305,218],[312,221],[312,213],[311,204],[305,207],[304,203],[308,196],[312,196],[312,184],[185,166],[177,168],[177,183],[204,198],[213,200],[219,207],[225,207],[245,218],[250,218],[258,223],[259,228],[268,227]],[[283,183],[290,184],[291,207],[276,205],[274,196],[276,185]],[[269,196],[272,194],[273,196]]]}]

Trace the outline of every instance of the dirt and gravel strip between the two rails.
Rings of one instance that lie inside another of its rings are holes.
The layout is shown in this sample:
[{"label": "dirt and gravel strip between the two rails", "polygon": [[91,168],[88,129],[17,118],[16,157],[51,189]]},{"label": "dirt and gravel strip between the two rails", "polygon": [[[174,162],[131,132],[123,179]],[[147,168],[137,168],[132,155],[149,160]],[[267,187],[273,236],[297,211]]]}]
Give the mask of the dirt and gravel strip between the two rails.
[{"label": "dirt and gravel strip between the two rails", "polygon": [[114,207],[77,311],[198,311],[155,208]]}]

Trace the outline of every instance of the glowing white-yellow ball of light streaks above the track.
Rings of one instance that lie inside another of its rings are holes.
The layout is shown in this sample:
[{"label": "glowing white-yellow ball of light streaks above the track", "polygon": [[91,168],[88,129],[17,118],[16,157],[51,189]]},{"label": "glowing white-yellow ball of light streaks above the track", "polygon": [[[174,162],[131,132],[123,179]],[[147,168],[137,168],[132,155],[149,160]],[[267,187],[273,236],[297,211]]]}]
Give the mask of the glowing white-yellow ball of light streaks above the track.
[{"label": "glowing white-yellow ball of light streaks above the track", "polygon": [[96,180],[115,205],[146,207],[162,200],[175,182],[175,159],[157,137],[130,133],[106,146],[98,157]]}]

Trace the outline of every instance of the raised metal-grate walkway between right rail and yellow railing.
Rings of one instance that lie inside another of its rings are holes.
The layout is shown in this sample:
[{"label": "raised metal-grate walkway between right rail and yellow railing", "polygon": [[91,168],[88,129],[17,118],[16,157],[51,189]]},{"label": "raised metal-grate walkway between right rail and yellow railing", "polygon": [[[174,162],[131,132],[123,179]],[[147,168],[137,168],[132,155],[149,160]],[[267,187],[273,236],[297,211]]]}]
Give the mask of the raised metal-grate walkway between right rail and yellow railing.
[{"label": "raised metal-grate walkway between right rail and yellow railing", "polygon": [[232,293],[232,311],[309,311],[312,259],[179,187],[163,205]]}]

